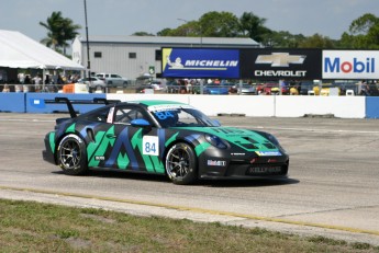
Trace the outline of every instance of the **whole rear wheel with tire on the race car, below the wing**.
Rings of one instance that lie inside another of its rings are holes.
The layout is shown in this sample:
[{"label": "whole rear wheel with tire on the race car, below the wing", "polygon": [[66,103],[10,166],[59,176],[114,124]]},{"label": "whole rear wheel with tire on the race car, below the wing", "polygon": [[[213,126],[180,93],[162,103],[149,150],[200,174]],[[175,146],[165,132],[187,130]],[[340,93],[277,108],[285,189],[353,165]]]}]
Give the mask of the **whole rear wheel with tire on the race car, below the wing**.
[{"label": "whole rear wheel with tire on the race car, below the wing", "polygon": [[60,140],[57,156],[65,174],[82,175],[88,171],[86,145],[77,135],[70,134]]}]

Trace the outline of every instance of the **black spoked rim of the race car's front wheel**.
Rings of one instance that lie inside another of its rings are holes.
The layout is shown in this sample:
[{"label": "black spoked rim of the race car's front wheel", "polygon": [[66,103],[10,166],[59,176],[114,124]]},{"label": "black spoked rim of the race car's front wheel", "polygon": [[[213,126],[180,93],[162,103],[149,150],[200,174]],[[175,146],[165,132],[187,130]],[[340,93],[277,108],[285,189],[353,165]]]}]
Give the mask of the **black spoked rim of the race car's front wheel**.
[{"label": "black spoked rim of the race car's front wheel", "polygon": [[174,149],[167,158],[166,170],[170,179],[185,177],[190,169],[190,154],[182,148]]}]

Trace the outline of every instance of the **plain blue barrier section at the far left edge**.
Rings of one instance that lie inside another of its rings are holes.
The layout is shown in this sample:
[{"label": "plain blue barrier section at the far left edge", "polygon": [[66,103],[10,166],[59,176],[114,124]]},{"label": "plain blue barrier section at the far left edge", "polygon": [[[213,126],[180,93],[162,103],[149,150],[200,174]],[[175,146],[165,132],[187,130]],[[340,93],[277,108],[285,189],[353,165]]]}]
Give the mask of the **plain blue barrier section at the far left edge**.
[{"label": "plain blue barrier section at the far left edge", "polygon": [[0,93],[0,112],[25,113],[25,93]]}]

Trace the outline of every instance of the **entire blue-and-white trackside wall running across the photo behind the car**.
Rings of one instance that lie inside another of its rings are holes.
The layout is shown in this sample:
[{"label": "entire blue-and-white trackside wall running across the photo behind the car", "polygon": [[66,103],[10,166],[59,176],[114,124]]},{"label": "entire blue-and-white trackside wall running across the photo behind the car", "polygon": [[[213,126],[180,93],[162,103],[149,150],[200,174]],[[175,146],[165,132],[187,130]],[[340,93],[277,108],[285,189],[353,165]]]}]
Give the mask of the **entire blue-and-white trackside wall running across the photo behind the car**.
[{"label": "entire blue-and-white trackside wall running across the photo behind the car", "polygon": [[[292,95],[187,95],[187,94],[56,94],[0,93],[0,112],[67,112],[63,104],[45,104],[44,100],[65,96],[70,100],[167,100],[188,103],[209,116],[242,114],[253,117],[303,117],[334,115],[341,118],[379,118],[379,96],[292,96]],[[75,105],[85,113],[93,105]]]}]

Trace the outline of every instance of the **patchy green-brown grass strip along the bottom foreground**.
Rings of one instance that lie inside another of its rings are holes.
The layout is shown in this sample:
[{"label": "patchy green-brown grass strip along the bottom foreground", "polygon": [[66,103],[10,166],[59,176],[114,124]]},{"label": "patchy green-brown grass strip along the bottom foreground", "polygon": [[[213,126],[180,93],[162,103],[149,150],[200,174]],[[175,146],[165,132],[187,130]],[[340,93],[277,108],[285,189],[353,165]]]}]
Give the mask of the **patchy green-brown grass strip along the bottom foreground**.
[{"label": "patchy green-brown grass strip along the bottom foreground", "polygon": [[379,252],[367,243],[0,199],[1,252]]}]

